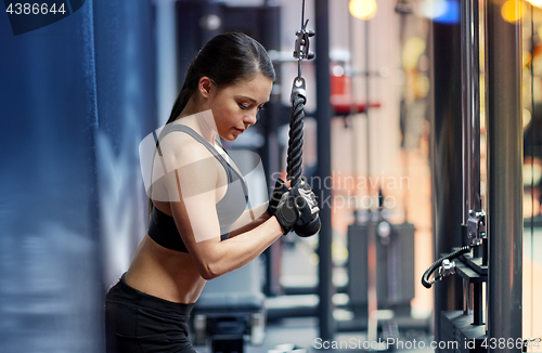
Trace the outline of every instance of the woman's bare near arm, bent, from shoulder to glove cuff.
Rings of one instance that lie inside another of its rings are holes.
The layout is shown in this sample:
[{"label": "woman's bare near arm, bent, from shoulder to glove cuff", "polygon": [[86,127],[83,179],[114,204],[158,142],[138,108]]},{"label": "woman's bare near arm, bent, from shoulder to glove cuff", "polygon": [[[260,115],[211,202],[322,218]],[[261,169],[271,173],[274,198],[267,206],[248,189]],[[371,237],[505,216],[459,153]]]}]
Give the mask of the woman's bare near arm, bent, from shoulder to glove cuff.
[{"label": "woman's bare near arm, bent, from shoulder to glove cuff", "polygon": [[[163,148],[164,149],[164,148]],[[170,166],[165,178],[171,214],[199,274],[211,279],[238,269],[266,250],[283,234],[276,218],[268,218],[250,231],[220,240],[216,212],[219,173],[214,157],[198,143],[165,156]],[[203,162],[208,161],[208,162]],[[195,168],[197,166],[197,168]],[[173,168],[171,168],[173,167]],[[263,212],[267,213],[267,212]]]}]

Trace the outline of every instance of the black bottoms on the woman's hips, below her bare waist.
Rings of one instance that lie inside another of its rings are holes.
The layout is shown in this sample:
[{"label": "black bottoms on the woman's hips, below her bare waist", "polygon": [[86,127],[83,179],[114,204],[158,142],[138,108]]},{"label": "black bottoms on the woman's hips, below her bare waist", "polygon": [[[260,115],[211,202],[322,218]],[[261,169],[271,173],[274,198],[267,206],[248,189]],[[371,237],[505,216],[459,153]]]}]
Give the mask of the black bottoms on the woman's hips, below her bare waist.
[{"label": "black bottoms on the woman's hips, below her bare waist", "polygon": [[188,324],[193,306],[145,295],[122,275],[105,299],[107,353],[195,353]]}]

